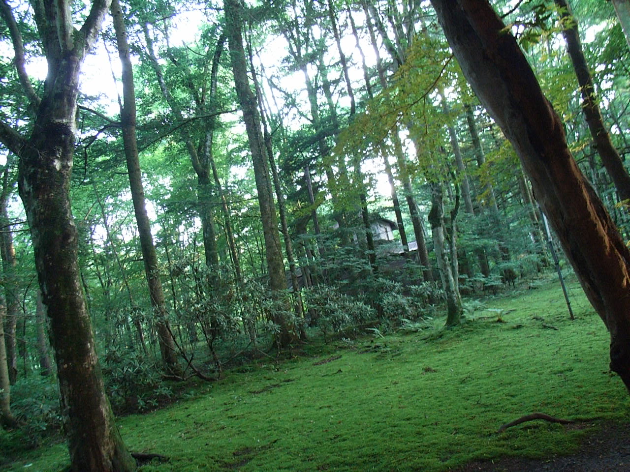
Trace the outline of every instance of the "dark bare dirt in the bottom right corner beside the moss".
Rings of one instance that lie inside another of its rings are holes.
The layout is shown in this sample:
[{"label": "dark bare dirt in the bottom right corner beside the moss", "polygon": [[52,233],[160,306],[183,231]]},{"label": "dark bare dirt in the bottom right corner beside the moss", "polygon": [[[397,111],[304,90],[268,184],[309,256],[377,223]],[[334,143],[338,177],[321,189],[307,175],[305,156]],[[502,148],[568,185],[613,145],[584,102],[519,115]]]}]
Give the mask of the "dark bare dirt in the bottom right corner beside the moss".
[{"label": "dark bare dirt in the bottom right corner beside the moss", "polygon": [[457,472],[630,472],[630,425],[607,423],[587,437],[580,451],[547,459],[475,461]]}]

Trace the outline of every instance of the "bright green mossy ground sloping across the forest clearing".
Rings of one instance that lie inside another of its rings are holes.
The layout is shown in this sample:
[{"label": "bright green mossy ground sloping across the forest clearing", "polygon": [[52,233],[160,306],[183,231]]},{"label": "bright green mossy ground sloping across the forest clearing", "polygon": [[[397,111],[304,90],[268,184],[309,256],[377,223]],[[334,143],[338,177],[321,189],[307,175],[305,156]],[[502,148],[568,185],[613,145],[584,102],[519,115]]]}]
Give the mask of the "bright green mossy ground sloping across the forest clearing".
[{"label": "bright green mossy ground sloping across the forest clearing", "polygon": [[[570,288],[573,322],[557,282],[545,284],[485,301],[486,309],[514,310],[502,315],[505,323],[482,308],[453,330],[439,319],[420,333],[309,346],[303,356],[231,371],[189,400],[118,424],[132,450],[171,459],[142,472],[442,471],[472,459],[568,453],[593,422],[496,429],[531,412],[630,420],[626,390],[608,372],[605,327],[578,284]],[[314,364],[333,356],[341,357]],[[66,464],[59,444],[9,470]]]}]

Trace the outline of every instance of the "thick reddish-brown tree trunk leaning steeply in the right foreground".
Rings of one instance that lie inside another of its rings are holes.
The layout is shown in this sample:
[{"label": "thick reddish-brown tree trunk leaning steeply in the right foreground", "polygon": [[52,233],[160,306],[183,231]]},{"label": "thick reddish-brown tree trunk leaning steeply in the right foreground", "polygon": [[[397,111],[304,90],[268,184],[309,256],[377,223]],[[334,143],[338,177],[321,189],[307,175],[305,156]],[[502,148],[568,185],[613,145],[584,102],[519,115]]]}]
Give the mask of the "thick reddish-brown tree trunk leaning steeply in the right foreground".
[{"label": "thick reddish-brown tree trunk leaning steeply in the right foreground", "polygon": [[588,299],[610,332],[610,368],[630,391],[630,251],[571,155],[563,123],[487,1],[432,0],[455,57],[516,150]]}]

